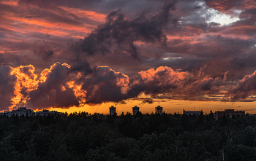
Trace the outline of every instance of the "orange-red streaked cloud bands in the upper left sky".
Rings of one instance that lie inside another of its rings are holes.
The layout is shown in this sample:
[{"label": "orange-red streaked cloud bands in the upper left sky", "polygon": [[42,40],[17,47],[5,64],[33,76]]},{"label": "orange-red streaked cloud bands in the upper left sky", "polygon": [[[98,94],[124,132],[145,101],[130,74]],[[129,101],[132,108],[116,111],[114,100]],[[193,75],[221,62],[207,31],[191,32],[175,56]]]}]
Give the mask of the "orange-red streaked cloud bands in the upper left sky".
[{"label": "orange-red streaked cloud bands in the upper left sky", "polygon": [[[97,22],[104,22],[106,15],[99,14],[97,12],[83,11],[80,9],[72,9],[67,7],[59,7],[63,9],[56,12],[50,9],[40,8],[34,5],[22,5],[18,4],[18,1],[1,1],[1,4],[6,4],[12,7],[19,7],[19,9],[26,10],[27,7],[34,9],[47,10],[48,12],[54,12],[57,15],[67,15],[70,20],[74,20],[76,23],[67,23],[61,20],[48,20],[46,17],[33,17],[33,15],[18,15],[15,12],[4,11],[1,15],[1,28],[5,28],[10,31],[15,31],[21,34],[31,34],[31,32],[37,32],[41,34],[50,34],[52,36],[72,36],[75,39],[83,39],[86,34],[89,34],[97,25],[90,25],[82,20],[76,20],[72,16],[80,18],[86,17]],[[18,34],[17,33],[17,34]],[[78,35],[79,34],[79,35]],[[19,38],[19,37],[18,37]],[[27,37],[25,39],[28,39]],[[10,39],[10,41],[17,41],[17,38]],[[24,39],[20,40],[24,41]]]}]

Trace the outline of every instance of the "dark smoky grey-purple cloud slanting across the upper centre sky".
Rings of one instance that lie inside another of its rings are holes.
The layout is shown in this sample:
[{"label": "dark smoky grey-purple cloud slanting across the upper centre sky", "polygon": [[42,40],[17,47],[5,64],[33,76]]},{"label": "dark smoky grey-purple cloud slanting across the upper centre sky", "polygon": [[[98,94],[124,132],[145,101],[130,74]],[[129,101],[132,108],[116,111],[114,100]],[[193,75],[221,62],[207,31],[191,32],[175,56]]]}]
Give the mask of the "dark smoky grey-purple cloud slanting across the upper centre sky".
[{"label": "dark smoky grey-purple cloud slanting across the upper centre sky", "polygon": [[125,18],[121,10],[110,12],[106,23],[99,25],[89,36],[72,44],[72,51],[80,57],[80,52],[87,55],[109,52],[128,52],[138,58],[136,41],[166,44],[167,38],[163,29],[167,25],[178,25],[178,19],[170,15],[175,10],[176,1],[166,3],[158,15],[148,17],[145,12],[133,20]]}]

